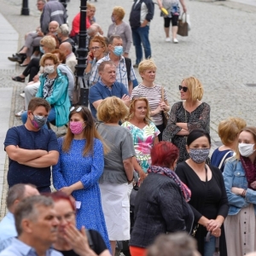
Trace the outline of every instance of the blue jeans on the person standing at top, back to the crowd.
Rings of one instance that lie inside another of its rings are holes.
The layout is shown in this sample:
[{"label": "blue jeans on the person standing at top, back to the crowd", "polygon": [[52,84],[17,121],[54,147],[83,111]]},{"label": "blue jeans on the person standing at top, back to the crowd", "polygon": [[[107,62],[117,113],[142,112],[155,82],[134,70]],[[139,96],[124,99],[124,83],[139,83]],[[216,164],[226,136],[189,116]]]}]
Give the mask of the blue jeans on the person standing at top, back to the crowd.
[{"label": "blue jeans on the person standing at top, back to the crowd", "polygon": [[[140,26],[131,29],[133,45],[136,51],[136,64],[139,64],[143,60],[143,48],[145,53],[145,59],[151,57],[151,47],[148,39],[149,26]],[[143,43],[143,48],[142,48]]]}]

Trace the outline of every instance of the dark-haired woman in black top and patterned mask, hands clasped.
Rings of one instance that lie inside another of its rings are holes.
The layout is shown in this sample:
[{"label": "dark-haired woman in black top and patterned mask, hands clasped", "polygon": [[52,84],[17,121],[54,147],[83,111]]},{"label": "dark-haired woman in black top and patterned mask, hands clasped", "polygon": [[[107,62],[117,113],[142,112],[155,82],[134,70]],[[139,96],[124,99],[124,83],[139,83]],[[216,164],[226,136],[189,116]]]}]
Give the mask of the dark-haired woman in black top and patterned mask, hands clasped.
[{"label": "dark-haired woman in black top and patterned mask, hands clasped", "polygon": [[[224,179],[217,167],[206,164],[211,148],[211,138],[207,131],[191,131],[186,148],[190,158],[177,165],[176,173],[191,189],[189,205],[195,215],[192,234],[194,232],[201,255],[209,256],[215,251],[215,238],[221,236],[224,218],[229,211]],[[206,241],[208,231],[211,232],[210,241]],[[224,236],[220,241],[222,246]]]}]

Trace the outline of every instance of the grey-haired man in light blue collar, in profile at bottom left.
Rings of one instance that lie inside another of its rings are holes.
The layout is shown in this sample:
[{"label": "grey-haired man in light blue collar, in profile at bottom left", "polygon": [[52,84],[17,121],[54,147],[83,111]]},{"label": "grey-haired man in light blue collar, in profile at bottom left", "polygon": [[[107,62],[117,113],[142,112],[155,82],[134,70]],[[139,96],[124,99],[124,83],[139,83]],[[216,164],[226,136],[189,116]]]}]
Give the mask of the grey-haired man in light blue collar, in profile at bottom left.
[{"label": "grey-haired man in light blue collar, in profile at bottom left", "polygon": [[18,237],[0,256],[61,256],[50,248],[57,239],[59,223],[50,197],[33,195],[20,201],[15,209]]}]

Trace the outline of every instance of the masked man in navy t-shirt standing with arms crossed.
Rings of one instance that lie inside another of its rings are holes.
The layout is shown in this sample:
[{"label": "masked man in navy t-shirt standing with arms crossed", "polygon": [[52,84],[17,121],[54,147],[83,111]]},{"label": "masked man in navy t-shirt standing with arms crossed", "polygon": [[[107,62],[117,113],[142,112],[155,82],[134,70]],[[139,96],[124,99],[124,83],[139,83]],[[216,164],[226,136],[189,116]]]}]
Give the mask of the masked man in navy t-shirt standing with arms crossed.
[{"label": "masked man in navy t-shirt standing with arms crossed", "polygon": [[31,183],[39,192],[50,192],[50,166],[59,159],[55,132],[41,129],[49,115],[49,102],[32,98],[25,125],[7,131],[4,149],[9,156],[8,184]]}]

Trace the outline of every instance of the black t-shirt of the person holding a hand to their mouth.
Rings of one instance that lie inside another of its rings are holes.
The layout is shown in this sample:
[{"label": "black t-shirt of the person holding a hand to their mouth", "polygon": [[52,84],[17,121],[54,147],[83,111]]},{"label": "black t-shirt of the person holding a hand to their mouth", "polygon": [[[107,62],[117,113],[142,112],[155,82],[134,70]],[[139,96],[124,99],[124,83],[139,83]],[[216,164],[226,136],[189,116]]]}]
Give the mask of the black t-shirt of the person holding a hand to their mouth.
[{"label": "black t-shirt of the person holding a hand to their mouth", "polygon": [[[89,230],[89,233],[94,246],[93,251],[97,255],[100,255],[103,251],[108,250],[108,247],[106,246],[105,241],[103,240],[99,232],[97,232],[96,230]],[[75,253],[73,250],[70,250],[70,251],[57,250],[57,251],[62,253],[63,256],[79,256],[79,254]]]}]

